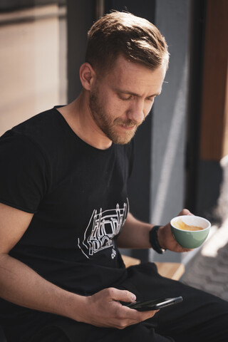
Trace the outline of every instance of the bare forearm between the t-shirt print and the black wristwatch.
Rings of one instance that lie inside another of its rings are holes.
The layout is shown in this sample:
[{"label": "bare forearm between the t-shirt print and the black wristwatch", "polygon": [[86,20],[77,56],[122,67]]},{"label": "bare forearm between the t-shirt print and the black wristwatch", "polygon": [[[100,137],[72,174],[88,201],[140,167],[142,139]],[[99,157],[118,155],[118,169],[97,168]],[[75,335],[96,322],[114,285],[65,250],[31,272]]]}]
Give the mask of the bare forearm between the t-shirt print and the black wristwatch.
[{"label": "bare forearm between the t-shirt print and the black wristwatch", "polygon": [[120,233],[117,243],[119,248],[150,248],[149,232],[152,224],[135,219],[132,214],[128,217]]}]

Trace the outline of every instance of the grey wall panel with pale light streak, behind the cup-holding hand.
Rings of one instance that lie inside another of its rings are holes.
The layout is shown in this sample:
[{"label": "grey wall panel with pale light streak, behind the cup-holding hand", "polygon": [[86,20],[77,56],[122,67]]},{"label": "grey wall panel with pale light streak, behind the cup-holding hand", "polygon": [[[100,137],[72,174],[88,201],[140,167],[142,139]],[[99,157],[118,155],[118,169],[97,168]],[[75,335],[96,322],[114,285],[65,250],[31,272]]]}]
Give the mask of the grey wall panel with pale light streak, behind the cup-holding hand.
[{"label": "grey wall panel with pale light streak, behind the cup-holding hand", "polygon": [[[155,9],[155,25],[169,46],[170,67],[153,108],[150,222],[166,224],[185,202],[190,1],[159,0]],[[182,256],[166,252],[161,258],[178,261]],[[161,258],[150,251],[150,259]]]}]

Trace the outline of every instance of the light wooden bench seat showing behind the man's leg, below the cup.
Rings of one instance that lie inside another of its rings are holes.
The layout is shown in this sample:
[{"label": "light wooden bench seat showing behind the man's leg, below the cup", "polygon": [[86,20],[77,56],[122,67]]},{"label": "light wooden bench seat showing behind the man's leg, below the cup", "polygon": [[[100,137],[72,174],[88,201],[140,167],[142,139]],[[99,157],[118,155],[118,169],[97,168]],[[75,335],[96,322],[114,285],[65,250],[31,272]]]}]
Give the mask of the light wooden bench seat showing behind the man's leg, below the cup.
[{"label": "light wooden bench seat showing behind the man's leg, below the cup", "polygon": [[[123,262],[126,267],[140,264],[140,259],[135,259],[133,257],[128,257],[127,255],[122,255]],[[185,273],[185,266],[179,262],[155,262],[157,265],[157,271],[161,276],[166,278],[179,280],[180,277]]]}]

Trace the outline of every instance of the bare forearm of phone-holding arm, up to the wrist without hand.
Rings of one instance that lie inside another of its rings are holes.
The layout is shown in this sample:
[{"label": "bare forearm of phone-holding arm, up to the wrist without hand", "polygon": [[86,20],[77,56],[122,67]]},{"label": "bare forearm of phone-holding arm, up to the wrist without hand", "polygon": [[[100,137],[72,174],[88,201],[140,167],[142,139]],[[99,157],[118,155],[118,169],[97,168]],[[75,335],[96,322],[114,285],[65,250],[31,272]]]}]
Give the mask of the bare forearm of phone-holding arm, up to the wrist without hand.
[{"label": "bare forearm of phone-holding arm, up to the wrist without hand", "polygon": [[86,299],[51,284],[8,254],[0,257],[0,296],[20,306],[78,321],[81,321],[80,308]]}]

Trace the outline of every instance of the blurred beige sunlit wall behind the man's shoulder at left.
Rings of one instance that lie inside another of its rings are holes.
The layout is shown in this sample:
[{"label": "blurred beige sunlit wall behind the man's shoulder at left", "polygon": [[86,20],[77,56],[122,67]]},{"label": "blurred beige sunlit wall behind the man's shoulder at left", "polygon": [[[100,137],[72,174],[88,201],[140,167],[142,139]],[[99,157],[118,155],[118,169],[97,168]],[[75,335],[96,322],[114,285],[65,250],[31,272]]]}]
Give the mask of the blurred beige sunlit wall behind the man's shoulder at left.
[{"label": "blurred beige sunlit wall behind the man's shoulder at left", "polygon": [[0,135],[66,101],[59,16],[57,5],[0,13]]}]

